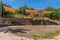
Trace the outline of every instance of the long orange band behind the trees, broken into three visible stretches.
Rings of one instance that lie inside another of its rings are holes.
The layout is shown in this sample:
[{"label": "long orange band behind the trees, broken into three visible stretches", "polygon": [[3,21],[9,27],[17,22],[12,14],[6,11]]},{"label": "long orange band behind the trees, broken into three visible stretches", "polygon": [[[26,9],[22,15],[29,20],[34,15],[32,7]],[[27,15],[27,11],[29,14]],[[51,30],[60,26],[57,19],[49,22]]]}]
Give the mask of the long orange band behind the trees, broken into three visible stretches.
[{"label": "long orange band behind the trees, broken into three visible stretches", "polygon": [[[18,10],[18,9],[6,7],[6,6],[4,6],[4,8],[5,8],[5,11],[10,11],[10,12],[15,12],[16,10]],[[41,13],[39,10],[25,10],[25,11],[26,11],[26,13],[30,13],[30,14]],[[44,14],[51,13],[51,12],[54,12],[54,11],[43,11]]]}]

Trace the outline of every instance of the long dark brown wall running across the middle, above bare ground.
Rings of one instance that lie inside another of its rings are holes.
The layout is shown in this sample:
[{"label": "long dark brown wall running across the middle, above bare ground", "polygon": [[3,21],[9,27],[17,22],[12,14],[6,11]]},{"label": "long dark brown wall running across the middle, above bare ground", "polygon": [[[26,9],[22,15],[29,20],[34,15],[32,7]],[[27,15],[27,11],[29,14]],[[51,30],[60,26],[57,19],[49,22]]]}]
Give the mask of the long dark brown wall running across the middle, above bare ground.
[{"label": "long dark brown wall running across the middle, above bare ground", "polygon": [[[33,19],[19,19],[19,18],[4,18],[3,23],[0,26],[12,26],[12,25],[59,25],[56,22],[49,20],[33,20]],[[6,24],[6,22],[8,22]]]}]

